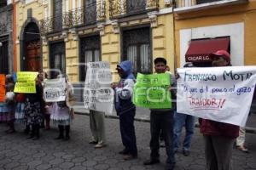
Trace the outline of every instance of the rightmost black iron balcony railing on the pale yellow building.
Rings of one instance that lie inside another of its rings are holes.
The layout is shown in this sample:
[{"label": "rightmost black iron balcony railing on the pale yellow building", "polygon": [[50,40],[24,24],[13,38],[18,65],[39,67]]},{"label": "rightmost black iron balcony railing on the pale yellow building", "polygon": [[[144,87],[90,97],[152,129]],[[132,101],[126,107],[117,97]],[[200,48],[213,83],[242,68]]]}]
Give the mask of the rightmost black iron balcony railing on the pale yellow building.
[{"label": "rightmost black iron balcony railing on the pale yellow building", "polygon": [[109,0],[109,16],[111,19],[136,14],[145,14],[157,9],[158,0]]}]

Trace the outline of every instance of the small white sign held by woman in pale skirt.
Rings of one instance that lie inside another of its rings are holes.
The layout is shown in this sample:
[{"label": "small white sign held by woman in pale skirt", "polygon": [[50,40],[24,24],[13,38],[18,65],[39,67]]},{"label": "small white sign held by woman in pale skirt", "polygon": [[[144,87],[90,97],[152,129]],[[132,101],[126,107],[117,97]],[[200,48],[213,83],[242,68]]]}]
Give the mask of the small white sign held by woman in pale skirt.
[{"label": "small white sign held by woman in pale skirt", "polygon": [[49,79],[44,83],[45,102],[65,101],[67,88],[65,78]]}]

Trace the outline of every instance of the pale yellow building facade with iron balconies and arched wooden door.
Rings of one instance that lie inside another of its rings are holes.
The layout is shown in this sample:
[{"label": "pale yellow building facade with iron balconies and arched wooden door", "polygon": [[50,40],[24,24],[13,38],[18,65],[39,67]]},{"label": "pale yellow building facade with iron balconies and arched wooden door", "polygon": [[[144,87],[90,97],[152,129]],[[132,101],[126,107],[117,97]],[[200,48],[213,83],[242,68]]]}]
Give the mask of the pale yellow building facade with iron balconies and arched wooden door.
[{"label": "pale yellow building facade with iron balconies and arched wooden door", "polygon": [[125,59],[135,74],[154,72],[156,57],[174,71],[171,0],[18,0],[15,9],[17,71],[61,71],[78,94],[90,61],[108,61],[113,82]]}]

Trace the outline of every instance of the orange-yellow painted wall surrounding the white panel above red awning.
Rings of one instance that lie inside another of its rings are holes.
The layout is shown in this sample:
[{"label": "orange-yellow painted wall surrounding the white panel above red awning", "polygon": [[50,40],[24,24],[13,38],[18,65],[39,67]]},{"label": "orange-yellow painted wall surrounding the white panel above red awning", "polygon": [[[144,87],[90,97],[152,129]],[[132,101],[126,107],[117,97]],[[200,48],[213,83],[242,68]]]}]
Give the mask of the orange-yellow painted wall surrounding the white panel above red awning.
[{"label": "orange-yellow painted wall surrounding the white panel above red awning", "polygon": [[179,31],[182,29],[216,26],[244,22],[244,56],[245,65],[256,65],[256,1],[249,0],[246,4],[236,4],[212,9],[200,9],[186,14],[175,14],[175,53],[177,65],[180,65]]}]

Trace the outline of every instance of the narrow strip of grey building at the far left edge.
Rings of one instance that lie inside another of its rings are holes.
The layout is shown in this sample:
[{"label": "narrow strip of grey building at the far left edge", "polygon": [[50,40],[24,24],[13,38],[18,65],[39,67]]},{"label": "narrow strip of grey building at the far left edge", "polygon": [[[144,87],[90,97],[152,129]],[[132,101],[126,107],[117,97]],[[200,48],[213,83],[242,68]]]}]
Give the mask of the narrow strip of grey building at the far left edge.
[{"label": "narrow strip of grey building at the far left edge", "polygon": [[0,2],[0,74],[14,71],[13,54],[13,4]]}]

